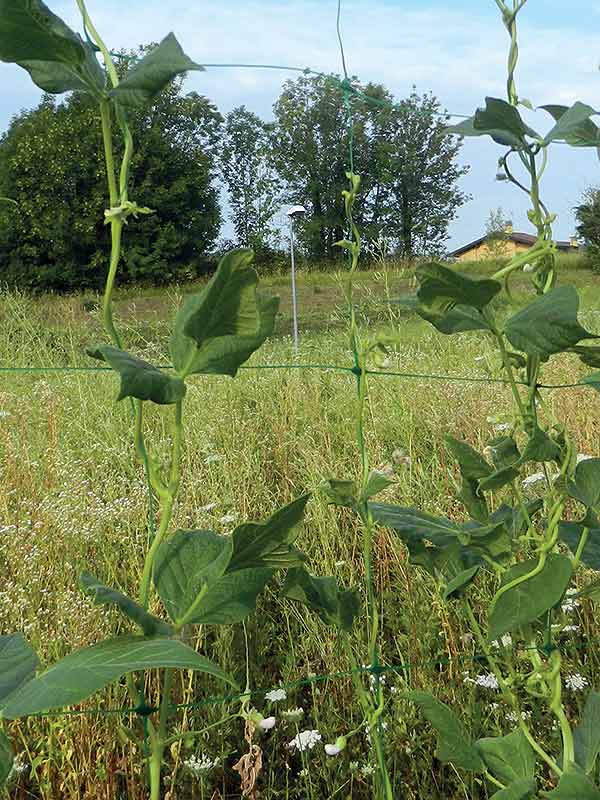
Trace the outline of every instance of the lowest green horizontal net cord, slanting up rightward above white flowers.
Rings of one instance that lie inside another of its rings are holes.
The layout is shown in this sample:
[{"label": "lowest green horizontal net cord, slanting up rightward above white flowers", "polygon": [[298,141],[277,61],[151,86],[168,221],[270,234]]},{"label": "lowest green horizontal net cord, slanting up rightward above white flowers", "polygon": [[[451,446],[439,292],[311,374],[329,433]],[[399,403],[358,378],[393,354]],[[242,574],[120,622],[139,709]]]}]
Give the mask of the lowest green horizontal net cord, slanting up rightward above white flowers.
[{"label": "lowest green horizontal net cord, slanting up rightward above white flowers", "polygon": [[[591,648],[595,644],[600,642],[600,637],[594,637],[589,639],[587,642],[574,642],[572,644],[563,644],[560,646],[556,646],[552,649],[559,650],[563,653],[568,653],[572,650],[586,650]],[[529,646],[529,647],[501,647],[498,649],[498,652],[513,652],[513,653],[524,653],[529,651],[537,651],[539,653],[547,654],[547,648],[544,645],[540,646]],[[450,664],[456,662],[478,662],[485,659],[485,653],[473,653],[473,654],[457,654],[451,656],[440,656],[439,658],[431,658],[426,659],[423,661],[409,661],[400,664],[389,664],[389,665],[377,665],[376,667],[372,666],[364,666],[364,667],[357,667],[351,670],[345,670],[341,672],[328,672],[322,673],[318,675],[311,675],[307,678],[300,678],[294,681],[289,681],[287,683],[280,683],[276,686],[268,686],[262,687],[259,689],[252,689],[249,692],[238,692],[232,694],[225,694],[225,695],[214,695],[212,697],[207,697],[204,700],[199,700],[197,702],[191,703],[177,703],[169,705],[171,711],[181,711],[181,710],[193,710],[199,708],[205,708],[211,705],[219,705],[221,703],[229,703],[229,702],[236,702],[242,700],[246,697],[257,697],[259,695],[265,695],[269,691],[273,691],[276,689],[299,689],[303,686],[311,686],[315,683],[323,683],[324,681],[328,680],[342,680],[344,678],[352,678],[354,675],[363,675],[365,673],[369,673],[370,675],[383,675],[385,673],[402,673],[406,672],[407,670],[415,670],[421,669],[423,667],[431,667],[431,666],[448,666]],[[150,714],[157,713],[160,710],[158,706],[127,706],[124,708],[92,708],[92,709],[81,709],[81,710],[74,710],[74,711],[50,711],[50,712],[40,712],[38,714],[31,714],[28,718],[37,718],[37,719],[46,719],[46,718],[54,718],[54,717],[81,717],[81,716],[110,716],[110,715],[129,715],[129,714],[137,714],[139,716],[149,716]]]}]

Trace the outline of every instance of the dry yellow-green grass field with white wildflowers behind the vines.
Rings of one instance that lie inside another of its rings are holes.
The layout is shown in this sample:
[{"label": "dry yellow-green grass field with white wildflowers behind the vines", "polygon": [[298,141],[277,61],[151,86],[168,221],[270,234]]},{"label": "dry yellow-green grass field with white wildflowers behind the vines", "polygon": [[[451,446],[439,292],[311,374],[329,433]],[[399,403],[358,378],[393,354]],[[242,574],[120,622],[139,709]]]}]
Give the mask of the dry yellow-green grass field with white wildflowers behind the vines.
[{"label": "dry yellow-green grass field with white wildflowers behind the vines", "polygon": [[[485,272],[486,268],[477,268]],[[294,356],[289,286],[273,278],[263,288],[282,296],[276,336],[251,360],[238,378],[197,378],[186,401],[187,447],[184,482],[175,524],[226,532],[232,519],[261,519],[303,492],[314,492],[300,544],[318,574],[336,574],[353,586],[361,581],[358,529],[347,512],[327,505],[318,491],[324,478],[352,478],[358,470],[353,419],[355,382],[349,373],[327,369],[274,369],[309,364],[351,366],[345,328],[347,311],[341,274],[313,272],[299,282],[301,348]],[[581,318],[600,331],[600,277],[572,267],[564,279],[581,289]],[[517,298],[526,276],[515,279]],[[361,273],[357,295],[365,332],[393,331],[397,337],[391,364],[371,379],[367,442],[374,465],[389,462],[392,452],[408,451],[410,467],[398,470],[386,490],[387,501],[461,517],[453,499],[456,474],[442,447],[451,433],[480,447],[510,413],[507,390],[497,383],[454,381],[495,378],[493,350],[478,333],[444,337],[426,323],[400,313],[386,299],[410,291],[404,272]],[[183,291],[186,291],[184,287]],[[129,349],[166,363],[169,320],[180,292],[133,292],[116,297],[116,316]],[[5,294],[0,298],[0,363],[5,367],[56,368],[92,366],[84,348],[103,340],[94,298]],[[269,369],[254,369],[263,366]],[[431,377],[399,377],[391,373]],[[581,375],[579,362],[561,358],[544,374],[545,382],[571,383]],[[435,377],[433,377],[435,376]],[[106,372],[8,371],[0,389],[0,629],[22,630],[46,662],[102,635],[124,630],[121,618],[95,607],[77,588],[87,569],[106,583],[133,590],[146,547],[147,498],[143,475],[131,442],[130,408],[115,405],[116,379]],[[581,453],[600,455],[600,399],[589,389],[546,391],[548,403],[565,420]],[[166,453],[164,412],[148,415],[149,440]],[[474,735],[507,732],[506,709],[493,690],[465,681],[478,673],[474,646],[463,639],[466,625],[458,607],[441,603],[438,587],[407,563],[393,534],[377,539],[377,586],[383,617],[382,649],[387,664],[389,705],[386,742],[393,758],[398,798],[486,798],[477,778],[459,775],[433,758],[435,734],[398,696],[426,688],[461,709]],[[482,590],[484,591],[484,590]],[[475,597],[477,601],[477,597]],[[476,602],[477,604],[477,602]],[[598,635],[591,605],[582,601],[570,634],[573,672],[598,685],[600,658],[592,640]],[[347,669],[331,628],[299,607],[274,596],[260,601],[247,625],[252,685],[265,690],[311,675]],[[241,626],[201,633],[198,646],[222,666],[240,674],[244,663]],[[148,686],[152,700],[156,687]],[[178,689],[182,702],[218,694],[221,687],[201,677]],[[126,705],[125,691],[113,689],[94,698],[90,708]],[[272,712],[258,695],[256,703]],[[576,718],[581,699],[567,694],[567,711]],[[352,726],[356,714],[347,677],[315,681],[288,690],[282,709],[302,707],[298,723],[284,722],[261,741],[261,797],[266,800],[369,798],[369,744],[352,739],[339,758],[322,749],[304,763],[285,743],[300,729],[318,729],[333,741]],[[231,706],[230,706],[231,708]],[[226,716],[227,705],[186,712],[191,729]],[[538,712],[533,709],[533,713]],[[146,797],[139,753],[121,726],[138,725],[118,715],[54,716],[12,726],[26,769],[11,791],[15,798]],[[558,736],[549,719],[534,717],[545,739]],[[208,731],[191,751],[174,745],[166,776],[167,797],[239,797],[231,765],[243,745],[239,720]],[[218,758],[201,783],[182,763],[190,754]]]}]

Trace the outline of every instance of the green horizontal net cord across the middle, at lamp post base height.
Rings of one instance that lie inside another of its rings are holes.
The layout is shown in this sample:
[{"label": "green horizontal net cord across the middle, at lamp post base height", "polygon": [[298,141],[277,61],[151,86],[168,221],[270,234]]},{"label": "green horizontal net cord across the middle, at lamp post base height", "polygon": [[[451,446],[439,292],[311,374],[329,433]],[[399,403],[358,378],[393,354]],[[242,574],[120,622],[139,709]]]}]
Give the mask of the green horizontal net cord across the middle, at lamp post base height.
[{"label": "green horizontal net cord across the middle, at lamp post base height", "polygon": [[[171,364],[161,364],[157,369],[173,369]],[[256,364],[245,365],[240,367],[241,370],[316,370],[323,372],[350,372],[356,374],[355,367],[344,367],[340,364]],[[1,367],[0,373],[85,373],[85,372],[114,372],[111,367]],[[483,378],[475,376],[460,376],[460,375],[445,375],[443,373],[428,373],[428,372],[392,372],[389,370],[366,370],[366,375],[379,377],[379,378],[405,378],[409,380],[435,380],[435,381],[451,381],[455,383],[489,383],[501,384],[503,386],[510,385],[506,378]],[[526,381],[515,381],[519,386],[529,386]],[[577,389],[577,388],[590,388],[591,384],[586,381],[579,381],[577,383],[538,383],[538,389]]]}]

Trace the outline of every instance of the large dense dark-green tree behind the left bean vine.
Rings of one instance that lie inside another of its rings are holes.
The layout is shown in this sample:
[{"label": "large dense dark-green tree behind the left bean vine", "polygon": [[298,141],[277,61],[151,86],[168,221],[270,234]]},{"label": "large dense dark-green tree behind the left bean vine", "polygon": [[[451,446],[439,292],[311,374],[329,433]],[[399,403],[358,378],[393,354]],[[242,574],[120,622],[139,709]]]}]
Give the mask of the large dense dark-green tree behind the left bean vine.
[{"label": "large dense dark-green tree behind the left bean vine", "polygon": [[[130,195],[155,210],[130,223],[120,280],[162,283],[196,274],[220,226],[214,186],[221,117],[174,81],[147,111],[129,118],[136,153]],[[117,153],[121,147],[115,140]],[[97,108],[83,95],[37,108],[0,139],[0,279],[23,288],[99,288],[109,236]]]}]

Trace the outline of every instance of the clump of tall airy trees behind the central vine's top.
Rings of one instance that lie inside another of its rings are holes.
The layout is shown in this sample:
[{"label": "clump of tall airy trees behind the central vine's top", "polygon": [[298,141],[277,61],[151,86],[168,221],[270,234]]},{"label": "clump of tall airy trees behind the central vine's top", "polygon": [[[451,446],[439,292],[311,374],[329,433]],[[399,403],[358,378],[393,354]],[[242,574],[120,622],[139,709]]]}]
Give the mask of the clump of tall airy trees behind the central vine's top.
[{"label": "clump of tall airy trees behind the central vine's top", "polygon": [[[448,226],[468,199],[457,188],[468,168],[457,163],[461,142],[446,136],[447,116],[433,95],[413,92],[401,103],[380,85],[350,95],[354,170],[362,191],[356,221],[367,239],[381,235],[407,258],[444,249]],[[337,254],[346,222],[349,126],[338,79],[288,81],[274,106],[273,154],[291,202],[310,206],[301,236],[314,259]]]}]

